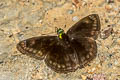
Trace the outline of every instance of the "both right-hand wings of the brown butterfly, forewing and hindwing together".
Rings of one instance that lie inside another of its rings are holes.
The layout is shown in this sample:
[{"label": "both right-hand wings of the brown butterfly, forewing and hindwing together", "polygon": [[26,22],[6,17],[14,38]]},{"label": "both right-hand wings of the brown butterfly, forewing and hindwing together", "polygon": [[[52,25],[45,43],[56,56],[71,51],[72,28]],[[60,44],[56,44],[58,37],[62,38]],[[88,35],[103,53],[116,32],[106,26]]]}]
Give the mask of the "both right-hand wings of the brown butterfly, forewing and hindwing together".
[{"label": "both right-hand wings of the brown butterfly, forewing and hindwing together", "polygon": [[91,14],[81,19],[67,31],[71,46],[77,53],[80,68],[96,57],[95,39],[97,39],[99,31],[100,20],[97,14]]}]

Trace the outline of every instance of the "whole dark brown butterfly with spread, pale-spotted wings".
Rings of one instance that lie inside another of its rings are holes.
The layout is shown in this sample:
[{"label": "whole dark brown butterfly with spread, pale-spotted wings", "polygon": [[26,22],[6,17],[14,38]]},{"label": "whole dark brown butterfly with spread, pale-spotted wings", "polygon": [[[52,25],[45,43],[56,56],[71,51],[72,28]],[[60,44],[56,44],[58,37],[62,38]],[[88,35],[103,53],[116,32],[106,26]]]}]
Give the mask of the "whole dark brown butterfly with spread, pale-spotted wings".
[{"label": "whole dark brown butterfly with spread, pale-spotted wings", "polygon": [[95,40],[99,32],[99,16],[91,14],[79,20],[66,33],[57,28],[57,36],[32,37],[20,41],[17,49],[23,54],[44,60],[55,72],[74,72],[96,57]]}]

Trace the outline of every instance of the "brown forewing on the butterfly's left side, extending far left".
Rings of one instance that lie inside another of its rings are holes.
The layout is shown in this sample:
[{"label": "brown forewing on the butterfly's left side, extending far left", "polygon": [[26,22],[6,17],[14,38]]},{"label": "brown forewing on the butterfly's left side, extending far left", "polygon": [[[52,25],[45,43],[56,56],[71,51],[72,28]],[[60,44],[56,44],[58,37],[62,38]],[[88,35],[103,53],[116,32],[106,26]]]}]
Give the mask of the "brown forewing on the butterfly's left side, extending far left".
[{"label": "brown forewing on the butterfly's left side, extending far left", "polygon": [[17,44],[17,49],[36,59],[44,59],[49,52],[51,44],[57,41],[56,36],[40,36],[23,40]]}]

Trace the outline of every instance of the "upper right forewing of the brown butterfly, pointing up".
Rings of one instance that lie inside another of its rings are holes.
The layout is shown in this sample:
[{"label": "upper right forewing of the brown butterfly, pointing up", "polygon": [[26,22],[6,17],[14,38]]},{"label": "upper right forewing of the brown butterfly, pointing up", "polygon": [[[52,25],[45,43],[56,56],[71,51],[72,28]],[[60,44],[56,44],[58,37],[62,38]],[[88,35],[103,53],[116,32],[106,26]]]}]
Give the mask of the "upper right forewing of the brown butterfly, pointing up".
[{"label": "upper right forewing of the brown butterfly, pointing up", "polygon": [[91,14],[84,17],[76,24],[74,24],[68,31],[69,37],[81,35],[81,37],[93,37],[97,38],[100,31],[100,19],[97,14]]}]

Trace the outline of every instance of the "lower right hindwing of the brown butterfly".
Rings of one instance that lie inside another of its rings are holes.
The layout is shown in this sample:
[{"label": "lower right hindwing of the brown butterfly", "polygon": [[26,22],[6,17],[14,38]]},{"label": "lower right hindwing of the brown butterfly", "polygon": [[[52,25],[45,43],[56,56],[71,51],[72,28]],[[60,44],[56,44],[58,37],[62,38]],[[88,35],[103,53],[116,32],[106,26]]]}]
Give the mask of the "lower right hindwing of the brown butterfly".
[{"label": "lower right hindwing of the brown butterfly", "polygon": [[96,57],[97,45],[93,38],[76,37],[71,45],[74,46],[81,68]]}]

